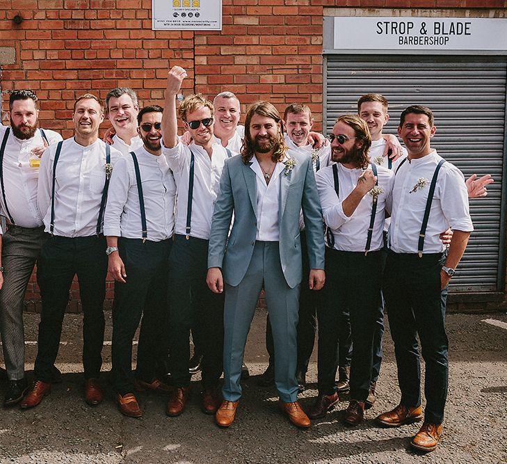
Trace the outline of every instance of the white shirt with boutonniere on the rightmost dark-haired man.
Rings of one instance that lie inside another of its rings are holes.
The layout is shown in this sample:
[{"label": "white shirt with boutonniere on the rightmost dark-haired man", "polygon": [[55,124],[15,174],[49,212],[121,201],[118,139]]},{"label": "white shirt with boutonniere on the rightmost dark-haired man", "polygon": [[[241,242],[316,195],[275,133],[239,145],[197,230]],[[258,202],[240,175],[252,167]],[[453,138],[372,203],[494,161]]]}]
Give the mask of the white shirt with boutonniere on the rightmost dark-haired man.
[{"label": "white shirt with boutonniere on the rightmost dark-haired man", "polygon": [[[396,173],[389,227],[389,247],[395,253],[417,253],[431,179],[441,159],[433,150],[420,159],[405,161]],[[425,185],[416,189],[419,179],[424,179]],[[456,166],[446,162],[438,173],[423,253],[442,253],[439,235],[449,227],[462,232],[474,230],[465,178]]]}]

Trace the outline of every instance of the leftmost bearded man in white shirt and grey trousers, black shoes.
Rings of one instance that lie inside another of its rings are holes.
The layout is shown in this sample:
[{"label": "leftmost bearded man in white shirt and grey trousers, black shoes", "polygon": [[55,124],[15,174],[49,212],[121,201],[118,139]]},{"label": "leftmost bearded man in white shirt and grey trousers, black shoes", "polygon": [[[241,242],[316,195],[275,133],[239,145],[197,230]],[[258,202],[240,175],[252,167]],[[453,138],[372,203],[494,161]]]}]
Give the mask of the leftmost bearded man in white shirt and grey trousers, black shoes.
[{"label": "leftmost bearded man in white shirt and grey trousers, black shoes", "polygon": [[47,239],[37,208],[40,157],[60,134],[38,129],[38,98],[31,90],[13,90],[9,97],[10,127],[0,125],[0,214],[8,227],[3,234],[3,289],[0,291],[0,332],[8,389],[3,406],[22,400],[28,383],[24,373],[23,300]]}]

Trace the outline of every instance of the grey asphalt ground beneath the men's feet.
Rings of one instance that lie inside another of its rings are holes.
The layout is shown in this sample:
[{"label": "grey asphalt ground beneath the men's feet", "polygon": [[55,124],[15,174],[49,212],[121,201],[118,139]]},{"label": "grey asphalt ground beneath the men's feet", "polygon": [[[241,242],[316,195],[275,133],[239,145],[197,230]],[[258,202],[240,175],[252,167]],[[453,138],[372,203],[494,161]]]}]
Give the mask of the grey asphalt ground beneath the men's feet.
[{"label": "grey asphalt ground beneath the men's feet", "polygon": [[[200,410],[198,376],[180,417],[166,417],[167,398],[152,393],[138,395],[143,417],[122,416],[108,383],[110,312],[106,318],[104,402],[96,407],[84,402],[81,316],[67,314],[56,363],[63,382],[54,384],[36,408],[1,411],[0,463],[507,463],[507,314],[447,317],[451,365],[444,435],[437,449],[426,455],[409,445],[420,424],[381,429],[373,420],[399,402],[388,329],[378,401],[365,421],[355,428],[344,426],[341,419],[348,403],[341,401],[310,429],[299,430],[277,409],[274,388],[257,386],[267,366],[266,312],[259,310],[246,349],[251,375],[243,381],[236,420],[229,429],[219,429],[214,417]],[[25,320],[27,369],[33,369],[38,315],[26,314]],[[308,389],[300,395],[303,408],[317,393],[315,352]],[[0,384],[2,390],[5,387]]]}]

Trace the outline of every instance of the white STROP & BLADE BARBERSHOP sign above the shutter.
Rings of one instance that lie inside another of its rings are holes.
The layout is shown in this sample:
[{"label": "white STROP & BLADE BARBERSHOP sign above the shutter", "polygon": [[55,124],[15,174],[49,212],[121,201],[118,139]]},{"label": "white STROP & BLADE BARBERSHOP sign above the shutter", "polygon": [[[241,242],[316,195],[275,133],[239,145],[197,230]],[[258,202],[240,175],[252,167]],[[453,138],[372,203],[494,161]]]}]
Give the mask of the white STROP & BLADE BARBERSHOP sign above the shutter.
[{"label": "white STROP & BLADE BARBERSHOP sign above the shutter", "polygon": [[335,17],[339,50],[507,50],[507,19]]}]

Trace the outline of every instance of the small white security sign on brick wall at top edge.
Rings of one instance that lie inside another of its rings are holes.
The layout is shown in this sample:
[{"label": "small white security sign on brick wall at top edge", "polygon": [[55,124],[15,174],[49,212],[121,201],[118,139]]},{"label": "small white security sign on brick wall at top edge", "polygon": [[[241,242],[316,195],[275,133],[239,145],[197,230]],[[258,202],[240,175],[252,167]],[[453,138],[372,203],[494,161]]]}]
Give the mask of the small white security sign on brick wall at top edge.
[{"label": "small white security sign on brick wall at top edge", "polygon": [[152,0],[152,29],[221,31],[222,0]]}]

